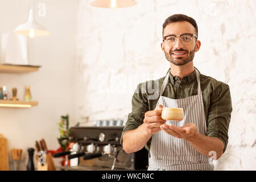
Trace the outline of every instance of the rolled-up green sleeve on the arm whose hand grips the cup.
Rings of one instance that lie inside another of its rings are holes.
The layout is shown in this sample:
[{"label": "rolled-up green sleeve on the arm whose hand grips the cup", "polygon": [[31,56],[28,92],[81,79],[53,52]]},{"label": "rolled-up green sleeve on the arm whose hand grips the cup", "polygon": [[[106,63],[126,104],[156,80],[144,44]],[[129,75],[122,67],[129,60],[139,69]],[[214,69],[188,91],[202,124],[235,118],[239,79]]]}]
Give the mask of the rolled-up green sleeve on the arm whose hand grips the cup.
[{"label": "rolled-up green sleeve on the arm whose hand grips the cup", "polygon": [[129,113],[125,127],[123,128],[120,143],[123,141],[123,134],[128,130],[137,129],[143,123],[144,114],[148,111],[148,100],[146,92],[142,90],[142,84],[137,85],[131,101],[132,110]]}]

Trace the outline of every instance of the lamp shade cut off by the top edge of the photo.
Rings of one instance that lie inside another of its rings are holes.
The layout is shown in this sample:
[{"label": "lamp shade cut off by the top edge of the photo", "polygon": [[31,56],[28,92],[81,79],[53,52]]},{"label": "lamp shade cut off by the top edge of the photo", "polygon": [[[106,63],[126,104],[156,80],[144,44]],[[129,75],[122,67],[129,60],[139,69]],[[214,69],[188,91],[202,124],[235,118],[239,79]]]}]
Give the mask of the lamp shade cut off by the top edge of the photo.
[{"label": "lamp shade cut off by the top edge of the photo", "polygon": [[134,0],[93,0],[90,2],[90,5],[95,7],[115,9],[135,6],[137,5],[137,2]]}]

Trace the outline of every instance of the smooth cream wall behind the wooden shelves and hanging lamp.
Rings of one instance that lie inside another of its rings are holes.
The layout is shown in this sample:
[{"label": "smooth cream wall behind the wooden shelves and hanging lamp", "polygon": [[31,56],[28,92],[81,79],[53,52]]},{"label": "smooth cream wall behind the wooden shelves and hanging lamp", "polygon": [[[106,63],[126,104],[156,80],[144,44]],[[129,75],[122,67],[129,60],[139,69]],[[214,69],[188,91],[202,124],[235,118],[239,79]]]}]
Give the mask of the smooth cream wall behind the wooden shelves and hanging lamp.
[{"label": "smooth cream wall behind the wooden shelves and hanging lamp", "polygon": [[[39,16],[39,3],[46,5],[46,16]],[[0,35],[13,32],[19,24],[27,22],[30,0],[0,0]],[[23,100],[25,86],[31,86],[32,100],[39,105],[26,108],[0,108],[0,133],[8,139],[9,164],[13,170],[11,148],[22,148],[20,169],[26,170],[27,149],[35,148],[35,140],[44,138],[49,150],[57,150],[61,115],[69,114],[75,125],[75,60],[77,1],[34,1],[35,20],[45,26],[51,35],[27,38],[28,64],[42,66],[38,72],[22,75],[0,74],[0,85],[18,88]],[[34,152],[36,155],[36,152]],[[59,165],[61,159],[54,159]],[[36,168],[36,161],[34,158]]]}]

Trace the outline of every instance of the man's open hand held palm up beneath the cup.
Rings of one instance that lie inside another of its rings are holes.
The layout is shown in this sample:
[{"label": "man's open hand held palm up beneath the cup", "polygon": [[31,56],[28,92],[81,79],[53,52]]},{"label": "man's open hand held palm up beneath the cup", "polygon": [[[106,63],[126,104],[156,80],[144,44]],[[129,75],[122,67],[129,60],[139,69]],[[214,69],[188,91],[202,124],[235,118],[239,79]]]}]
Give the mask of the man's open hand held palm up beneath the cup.
[{"label": "man's open hand held palm up beneath the cup", "polygon": [[172,135],[176,138],[188,139],[189,137],[193,137],[197,132],[197,127],[194,123],[187,123],[184,126],[176,127],[174,125],[161,125],[160,129],[166,132],[169,135]]}]

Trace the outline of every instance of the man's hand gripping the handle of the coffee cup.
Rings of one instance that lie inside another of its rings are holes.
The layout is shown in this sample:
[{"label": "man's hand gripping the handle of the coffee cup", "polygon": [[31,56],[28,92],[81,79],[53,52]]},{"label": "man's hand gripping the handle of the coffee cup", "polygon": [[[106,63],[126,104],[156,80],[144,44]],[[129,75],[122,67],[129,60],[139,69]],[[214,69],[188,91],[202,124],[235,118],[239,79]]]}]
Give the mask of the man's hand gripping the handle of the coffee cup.
[{"label": "man's hand gripping the handle of the coffee cup", "polygon": [[145,113],[143,120],[143,125],[146,127],[148,132],[153,135],[161,131],[160,125],[166,123],[166,120],[163,120],[162,115],[163,106],[158,105],[155,110],[150,110]]}]

